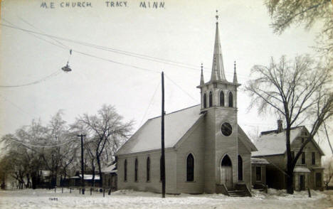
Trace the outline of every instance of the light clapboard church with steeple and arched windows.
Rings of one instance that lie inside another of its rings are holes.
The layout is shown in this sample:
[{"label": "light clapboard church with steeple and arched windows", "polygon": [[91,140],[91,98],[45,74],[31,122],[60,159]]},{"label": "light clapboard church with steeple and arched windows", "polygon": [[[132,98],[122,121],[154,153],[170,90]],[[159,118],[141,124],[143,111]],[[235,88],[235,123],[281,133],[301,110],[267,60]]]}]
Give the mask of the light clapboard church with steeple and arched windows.
[{"label": "light clapboard church with steeple and arched windows", "polygon": [[[201,68],[201,104],[165,115],[166,193],[228,193],[250,189],[251,151],[257,151],[237,119],[233,82],[223,68],[216,22],[211,79]],[[148,119],[117,151],[117,187],[162,192],[161,117]]]}]

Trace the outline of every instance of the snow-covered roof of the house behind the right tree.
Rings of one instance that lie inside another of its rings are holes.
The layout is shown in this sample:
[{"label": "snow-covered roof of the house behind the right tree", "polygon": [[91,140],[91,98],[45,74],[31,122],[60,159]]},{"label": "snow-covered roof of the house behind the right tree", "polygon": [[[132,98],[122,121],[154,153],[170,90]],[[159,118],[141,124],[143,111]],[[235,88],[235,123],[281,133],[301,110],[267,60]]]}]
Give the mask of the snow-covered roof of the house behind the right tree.
[{"label": "snow-covered roof of the house behind the right tree", "polygon": [[[293,127],[290,130],[290,144],[292,144],[292,141],[297,139],[304,130],[306,130],[305,127]],[[324,152],[320,149],[317,142],[312,140],[312,143],[317,147],[319,153],[324,155]],[[282,132],[277,132],[276,130],[261,132],[260,137],[255,141],[255,146],[258,151],[253,151],[252,156],[285,154],[285,129],[282,130]]]}]

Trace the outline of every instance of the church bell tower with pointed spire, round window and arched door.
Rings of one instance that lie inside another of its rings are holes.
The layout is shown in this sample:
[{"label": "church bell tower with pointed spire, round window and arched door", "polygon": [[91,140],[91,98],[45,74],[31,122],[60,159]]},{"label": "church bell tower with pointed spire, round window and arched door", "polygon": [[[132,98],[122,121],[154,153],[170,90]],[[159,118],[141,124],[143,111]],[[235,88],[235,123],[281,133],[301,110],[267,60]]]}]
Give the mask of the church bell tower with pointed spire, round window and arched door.
[{"label": "church bell tower with pointed spire, round window and arched door", "polygon": [[216,14],[211,80],[204,82],[201,64],[201,79],[198,86],[201,90],[201,113],[206,114],[204,134],[206,193],[215,193],[221,184],[231,189],[238,179],[237,88],[240,84],[237,81],[236,62],[233,65],[233,82],[226,80],[218,32]]}]

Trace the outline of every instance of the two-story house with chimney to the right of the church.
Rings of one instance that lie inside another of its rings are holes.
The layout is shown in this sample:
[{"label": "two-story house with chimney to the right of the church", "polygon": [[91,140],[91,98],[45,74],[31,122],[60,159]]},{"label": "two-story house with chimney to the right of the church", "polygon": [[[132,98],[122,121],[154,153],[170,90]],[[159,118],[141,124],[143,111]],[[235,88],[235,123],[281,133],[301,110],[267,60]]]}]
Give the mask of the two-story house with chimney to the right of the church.
[{"label": "two-story house with chimney to the right of the church", "polygon": [[[290,132],[290,146],[292,156],[297,154],[300,146],[307,140],[309,132],[306,127],[294,127]],[[266,159],[266,181],[270,188],[286,188],[287,154],[285,145],[285,129],[282,129],[282,121],[277,121],[277,130],[261,132],[255,141],[258,151],[252,153],[253,158]],[[323,170],[322,156],[324,152],[313,139],[305,146],[302,155],[297,160],[294,169],[295,191],[306,188],[322,189]],[[253,168],[254,169],[254,168]],[[253,178],[256,178],[253,176]]]}]

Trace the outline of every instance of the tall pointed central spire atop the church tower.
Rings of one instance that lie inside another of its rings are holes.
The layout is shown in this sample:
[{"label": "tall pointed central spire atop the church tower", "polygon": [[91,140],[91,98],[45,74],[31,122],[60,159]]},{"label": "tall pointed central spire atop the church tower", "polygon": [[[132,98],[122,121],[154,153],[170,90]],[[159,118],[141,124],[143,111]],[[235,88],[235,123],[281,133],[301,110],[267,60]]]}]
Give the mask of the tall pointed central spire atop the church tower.
[{"label": "tall pointed central spire atop the church tower", "polygon": [[[213,54],[213,66],[211,69],[211,81],[213,80],[226,80],[223,68],[223,58],[220,43],[220,36],[218,35],[218,14],[216,10],[216,32],[215,32],[215,44]],[[216,77],[215,77],[216,76]]]}]

